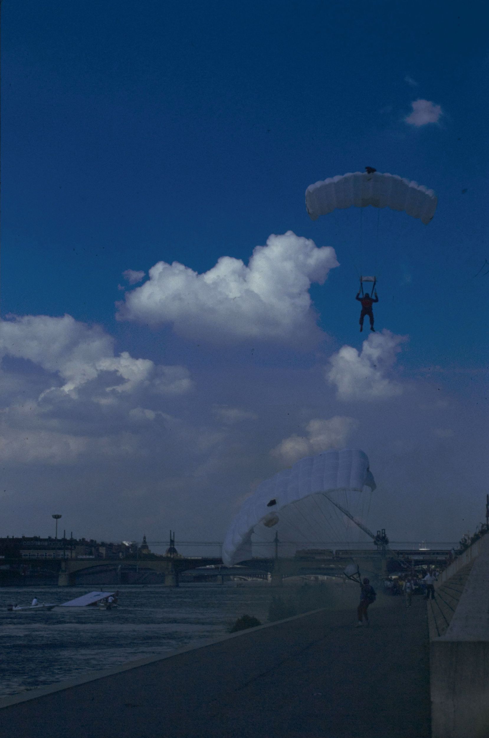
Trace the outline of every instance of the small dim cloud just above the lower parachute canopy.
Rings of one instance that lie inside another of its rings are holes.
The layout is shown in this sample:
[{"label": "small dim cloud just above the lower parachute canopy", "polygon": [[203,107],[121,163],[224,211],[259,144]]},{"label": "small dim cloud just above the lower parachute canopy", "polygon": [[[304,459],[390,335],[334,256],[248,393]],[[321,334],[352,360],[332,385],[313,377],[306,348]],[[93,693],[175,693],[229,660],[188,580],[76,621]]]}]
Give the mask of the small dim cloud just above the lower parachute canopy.
[{"label": "small dim cloud just above the lower parachute canopy", "polygon": [[295,463],[306,456],[319,454],[327,449],[340,449],[350,434],[358,428],[358,421],[344,415],[333,418],[311,420],[305,427],[306,435],[294,435],[284,440],[271,451],[285,463]]}]

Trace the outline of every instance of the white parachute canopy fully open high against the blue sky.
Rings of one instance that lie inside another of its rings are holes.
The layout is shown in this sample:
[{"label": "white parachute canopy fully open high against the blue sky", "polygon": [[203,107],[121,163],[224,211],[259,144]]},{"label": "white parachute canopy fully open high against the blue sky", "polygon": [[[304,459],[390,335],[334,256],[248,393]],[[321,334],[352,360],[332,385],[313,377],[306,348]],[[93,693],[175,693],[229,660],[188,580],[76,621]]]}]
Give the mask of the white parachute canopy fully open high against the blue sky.
[{"label": "white parachute canopy fully open high against the blue sky", "polygon": [[305,190],[305,207],[313,221],[336,208],[390,207],[403,210],[425,225],[437,209],[437,196],[422,184],[397,174],[353,172],[310,184]]}]

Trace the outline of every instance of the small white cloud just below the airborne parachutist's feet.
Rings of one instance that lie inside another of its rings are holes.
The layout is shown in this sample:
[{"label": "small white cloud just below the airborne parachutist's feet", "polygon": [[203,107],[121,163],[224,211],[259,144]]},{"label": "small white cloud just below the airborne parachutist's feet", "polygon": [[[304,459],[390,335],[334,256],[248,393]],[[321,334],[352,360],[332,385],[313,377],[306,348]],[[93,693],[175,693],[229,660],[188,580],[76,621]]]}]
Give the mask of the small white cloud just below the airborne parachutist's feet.
[{"label": "small white cloud just below the airborne parachutist's feet", "polygon": [[384,330],[370,334],[361,352],[353,346],[342,346],[330,357],[326,370],[327,381],[336,386],[338,399],[371,401],[400,395],[403,387],[389,378],[389,371],[406,339]]}]

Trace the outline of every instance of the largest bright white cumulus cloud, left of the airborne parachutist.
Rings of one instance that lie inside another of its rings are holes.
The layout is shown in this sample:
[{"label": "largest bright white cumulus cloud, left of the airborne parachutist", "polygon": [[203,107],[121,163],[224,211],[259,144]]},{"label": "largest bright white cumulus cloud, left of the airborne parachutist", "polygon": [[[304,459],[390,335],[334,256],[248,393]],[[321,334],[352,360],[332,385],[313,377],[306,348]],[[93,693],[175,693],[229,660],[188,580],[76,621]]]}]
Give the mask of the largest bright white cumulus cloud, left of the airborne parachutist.
[{"label": "largest bright white cumulus cloud, left of the airborne parachutist", "polygon": [[248,266],[223,256],[199,275],[176,261],[160,261],[142,286],[125,294],[117,317],[171,323],[176,333],[199,341],[302,342],[319,331],[311,283],[324,283],[336,266],[330,246],[318,248],[288,231],[256,246]]}]

